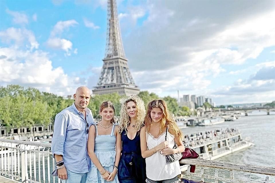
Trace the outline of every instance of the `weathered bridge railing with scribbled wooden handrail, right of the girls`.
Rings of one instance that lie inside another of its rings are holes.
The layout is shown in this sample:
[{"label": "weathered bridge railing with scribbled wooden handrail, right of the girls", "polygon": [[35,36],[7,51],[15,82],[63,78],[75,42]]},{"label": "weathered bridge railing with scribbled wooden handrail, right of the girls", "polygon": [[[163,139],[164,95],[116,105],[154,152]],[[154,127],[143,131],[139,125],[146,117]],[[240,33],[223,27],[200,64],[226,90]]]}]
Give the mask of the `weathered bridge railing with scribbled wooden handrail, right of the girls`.
[{"label": "weathered bridge railing with scribbled wooden handrail, right of the girls", "polygon": [[[212,160],[184,159],[181,163],[187,164],[187,171],[182,172],[181,182],[232,182],[232,183],[269,183],[270,176],[275,182],[275,168],[249,164],[236,164]],[[190,172],[190,165],[196,165],[195,173]],[[247,173],[246,173],[247,172]],[[235,174],[237,176],[235,176]],[[256,180],[257,179],[257,180]]]}]

